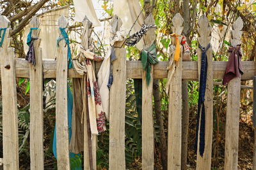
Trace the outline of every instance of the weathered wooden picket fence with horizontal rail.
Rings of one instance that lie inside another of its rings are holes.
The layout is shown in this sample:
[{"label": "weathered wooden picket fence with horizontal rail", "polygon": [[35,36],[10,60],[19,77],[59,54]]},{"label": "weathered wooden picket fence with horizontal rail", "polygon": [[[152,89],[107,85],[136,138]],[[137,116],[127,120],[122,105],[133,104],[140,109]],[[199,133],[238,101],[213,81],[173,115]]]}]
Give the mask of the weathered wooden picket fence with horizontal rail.
[{"label": "weathered wooden picket fence with horizontal rail", "polygon": [[[173,32],[181,34],[183,19],[177,14],[173,18]],[[83,23],[84,24],[84,23]],[[154,24],[152,15],[148,16],[145,24]],[[38,27],[36,17],[30,22],[31,27]],[[59,20],[60,27],[67,27],[65,17]],[[203,15],[198,22],[200,45],[206,47],[211,39],[211,27],[207,18]],[[241,43],[241,29],[243,22],[238,18],[233,25],[231,45]],[[31,169],[44,169],[44,145],[43,145],[43,106],[42,106],[42,72],[44,78],[56,78],[56,132],[58,169],[70,169],[68,149],[68,117],[67,117],[67,78],[80,78],[74,69],[68,69],[67,46],[65,41],[60,41],[60,47],[56,60],[42,59],[40,39],[35,40],[36,66],[29,64],[24,59],[15,59],[14,49],[10,46],[10,22],[4,16],[0,16],[0,29],[7,28],[3,45],[0,47],[1,83],[3,94],[3,165],[4,169],[19,169],[19,145],[17,127],[17,92],[16,78],[29,78],[30,80],[30,154]],[[32,31],[33,37],[40,37],[40,29]],[[154,28],[144,36],[145,46],[152,44],[156,39]],[[180,41],[179,37],[179,41]],[[172,44],[176,44],[175,38]],[[120,46],[122,43],[116,43]],[[152,66],[151,76],[154,78],[168,78],[167,67],[175,64],[172,80],[170,82],[170,104],[168,113],[168,169],[181,169],[182,154],[182,80],[198,81],[200,74],[200,60],[202,51],[198,48],[198,62],[159,62]],[[138,60],[126,60],[125,48],[116,48],[117,60],[113,62],[113,76],[115,78],[110,90],[109,109],[109,169],[125,169],[125,85],[127,78],[142,78],[142,169],[154,169],[154,127],[152,111],[152,81],[147,86],[145,71]],[[180,53],[182,57],[182,53]],[[208,72],[207,90],[205,92],[205,153],[201,157],[198,153],[196,169],[211,169],[212,151],[212,121],[213,121],[213,80],[222,79],[227,62],[212,61],[211,48],[207,51]],[[239,137],[239,101],[241,80],[252,80],[255,76],[256,62],[242,62],[244,74],[241,78],[235,78],[228,83],[227,123],[225,139],[225,169],[236,170],[238,159]],[[95,64],[95,70],[99,70],[100,63]],[[170,71],[169,71],[170,74]],[[116,95],[118,94],[118,95]],[[183,92],[184,95],[186,93]],[[188,127],[186,127],[188,128]],[[86,124],[84,124],[86,129]],[[187,129],[188,131],[188,129]],[[86,132],[86,131],[84,131]],[[86,135],[84,135],[86,136]],[[199,140],[199,139],[198,139]],[[93,139],[93,169],[96,167],[97,139]],[[88,150],[84,138],[84,150]],[[90,169],[88,154],[84,152],[84,169]]]}]

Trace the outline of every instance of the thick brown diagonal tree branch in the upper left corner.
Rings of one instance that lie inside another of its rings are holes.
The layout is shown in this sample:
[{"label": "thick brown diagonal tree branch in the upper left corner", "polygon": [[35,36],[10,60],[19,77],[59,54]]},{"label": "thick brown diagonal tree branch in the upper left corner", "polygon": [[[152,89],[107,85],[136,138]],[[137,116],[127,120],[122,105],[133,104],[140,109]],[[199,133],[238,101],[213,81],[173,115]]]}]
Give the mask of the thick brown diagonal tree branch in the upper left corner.
[{"label": "thick brown diagonal tree branch in the upper left corner", "polygon": [[28,15],[20,22],[20,24],[15,28],[13,29],[13,31],[11,32],[11,36],[13,36],[14,34],[16,34],[17,32],[21,31],[27,24],[27,22],[30,20],[30,18],[33,17],[33,15],[35,15],[35,13],[40,10],[40,8],[42,6],[44,6],[45,3],[47,3],[47,1],[49,0],[42,0],[42,1],[39,1],[38,3],[36,3],[31,9],[31,11],[29,11]]}]

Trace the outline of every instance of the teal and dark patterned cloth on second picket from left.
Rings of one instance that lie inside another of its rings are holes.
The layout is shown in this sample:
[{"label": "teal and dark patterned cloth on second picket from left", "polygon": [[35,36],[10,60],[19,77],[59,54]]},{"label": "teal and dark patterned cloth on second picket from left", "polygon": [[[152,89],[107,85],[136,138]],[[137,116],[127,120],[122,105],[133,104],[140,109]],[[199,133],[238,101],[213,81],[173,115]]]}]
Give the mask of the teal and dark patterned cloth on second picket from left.
[{"label": "teal and dark patterned cloth on second picket from left", "polygon": [[31,28],[27,37],[27,45],[29,46],[28,48],[28,53],[26,55],[26,60],[33,64],[34,66],[36,65],[36,59],[35,59],[35,48],[34,48],[34,40],[38,39],[38,37],[32,37],[32,31],[34,29],[38,29],[38,27]]}]

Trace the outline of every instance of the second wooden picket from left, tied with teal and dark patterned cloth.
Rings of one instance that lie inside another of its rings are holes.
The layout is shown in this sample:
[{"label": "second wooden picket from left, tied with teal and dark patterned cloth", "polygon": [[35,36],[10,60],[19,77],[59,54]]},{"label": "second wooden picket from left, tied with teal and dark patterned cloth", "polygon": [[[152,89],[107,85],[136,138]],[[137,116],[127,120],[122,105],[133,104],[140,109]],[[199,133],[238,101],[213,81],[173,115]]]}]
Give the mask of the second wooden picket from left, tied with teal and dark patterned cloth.
[{"label": "second wooden picket from left, tied with teal and dark patterned cloth", "polygon": [[[38,27],[39,20],[33,17],[29,23]],[[32,31],[32,37],[39,36],[40,29]],[[30,80],[30,168],[44,169],[44,120],[43,120],[43,62],[41,39],[34,41],[36,65],[29,63]]]}]

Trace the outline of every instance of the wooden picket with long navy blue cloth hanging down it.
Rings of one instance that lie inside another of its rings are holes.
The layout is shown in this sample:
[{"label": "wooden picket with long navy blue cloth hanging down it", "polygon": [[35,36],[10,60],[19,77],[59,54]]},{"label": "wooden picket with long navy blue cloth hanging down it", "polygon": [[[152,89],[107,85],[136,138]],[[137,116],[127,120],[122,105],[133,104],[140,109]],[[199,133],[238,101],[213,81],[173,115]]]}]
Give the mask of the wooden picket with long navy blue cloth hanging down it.
[{"label": "wooden picket with long navy blue cloth hanging down it", "polygon": [[[199,44],[205,49],[211,41],[211,27],[209,27],[209,20],[205,15],[202,15],[198,20],[198,37]],[[198,132],[198,147],[197,147],[197,158],[196,158],[196,169],[211,170],[211,153],[212,153],[212,121],[213,121],[213,73],[212,73],[212,48],[210,47],[207,52],[207,77],[206,77],[206,88],[205,88],[205,146],[203,157],[199,152],[200,143],[200,132]],[[200,69],[202,60],[202,50],[198,48],[198,80],[200,81]],[[200,110],[202,113],[202,110]],[[201,114],[200,114],[201,115]],[[200,117],[201,120],[201,117]],[[201,122],[201,121],[199,121]],[[200,131],[201,124],[199,123]]]}]

